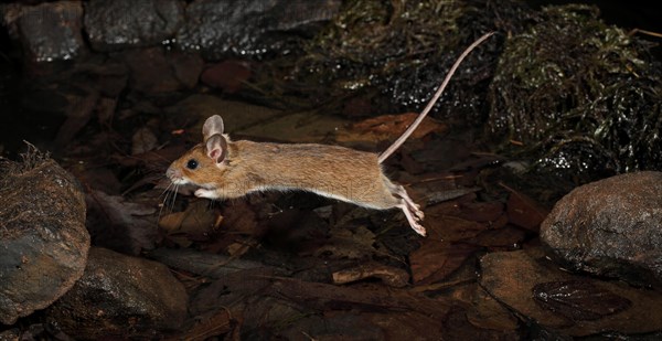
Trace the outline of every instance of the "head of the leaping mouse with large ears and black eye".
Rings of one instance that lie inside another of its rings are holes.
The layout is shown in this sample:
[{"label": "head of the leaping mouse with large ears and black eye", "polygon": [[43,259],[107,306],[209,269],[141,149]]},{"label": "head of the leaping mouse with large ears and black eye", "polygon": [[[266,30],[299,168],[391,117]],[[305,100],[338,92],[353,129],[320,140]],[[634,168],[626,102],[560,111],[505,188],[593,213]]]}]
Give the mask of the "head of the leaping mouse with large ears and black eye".
[{"label": "head of the leaping mouse with large ears and black eye", "polygon": [[166,175],[174,184],[211,183],[223,169],[227,157],[227,136],[223,134],[223,119],[214,115],[202,127],[203,142],[174,160]]}]

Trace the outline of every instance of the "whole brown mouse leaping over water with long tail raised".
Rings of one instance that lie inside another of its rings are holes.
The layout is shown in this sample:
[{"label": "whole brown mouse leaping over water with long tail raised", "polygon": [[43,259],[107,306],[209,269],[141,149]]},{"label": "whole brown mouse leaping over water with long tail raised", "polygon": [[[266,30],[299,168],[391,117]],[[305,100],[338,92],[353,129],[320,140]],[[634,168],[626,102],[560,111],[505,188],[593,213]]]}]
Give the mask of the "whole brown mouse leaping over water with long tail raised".
[{"label": "whole brown mouse leaping over water with long tail raised", "polygon": [[175,187],[192,184],[195,196],[211,200],[301,190],[367,209],[399,209],[409,226],[425,236],[424,212],[403,185],[388,179],[382,163],[420,125],[465,57],[493,33],[482,35],[460,54],[425,109],[380,154],[331,145],[234,141],[225,134],[223,118],[213,115],[202,127],[202,143],[174,160],[166,175]]}]

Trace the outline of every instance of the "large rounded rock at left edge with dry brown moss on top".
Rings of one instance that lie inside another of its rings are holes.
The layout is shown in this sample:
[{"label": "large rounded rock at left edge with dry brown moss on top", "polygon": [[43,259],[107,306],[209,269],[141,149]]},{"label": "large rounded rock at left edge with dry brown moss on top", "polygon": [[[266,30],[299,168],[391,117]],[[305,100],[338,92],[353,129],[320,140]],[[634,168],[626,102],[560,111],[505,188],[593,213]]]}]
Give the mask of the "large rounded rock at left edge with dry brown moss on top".
[{"label": "large rounded rock at left edge with dry brown moss on top", "polygon": [[43,309],[83,275],[89,235],[76,180],[36,151],[0,160],[0,322]]}]

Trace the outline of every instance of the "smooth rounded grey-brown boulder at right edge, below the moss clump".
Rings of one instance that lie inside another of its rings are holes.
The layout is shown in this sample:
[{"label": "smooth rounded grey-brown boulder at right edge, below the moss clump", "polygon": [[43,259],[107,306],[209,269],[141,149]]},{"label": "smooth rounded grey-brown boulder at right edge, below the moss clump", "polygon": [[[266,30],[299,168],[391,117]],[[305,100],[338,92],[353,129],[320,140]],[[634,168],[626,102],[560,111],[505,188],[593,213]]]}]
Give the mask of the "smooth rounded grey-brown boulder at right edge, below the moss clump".
[{"label": "smooth rounded grey-brown boulder at right edge, below the moss clump", "polygon": [[574,270],[662,286],[662,172],[585,184],[559,200],[541,238]]}]

